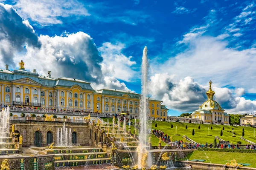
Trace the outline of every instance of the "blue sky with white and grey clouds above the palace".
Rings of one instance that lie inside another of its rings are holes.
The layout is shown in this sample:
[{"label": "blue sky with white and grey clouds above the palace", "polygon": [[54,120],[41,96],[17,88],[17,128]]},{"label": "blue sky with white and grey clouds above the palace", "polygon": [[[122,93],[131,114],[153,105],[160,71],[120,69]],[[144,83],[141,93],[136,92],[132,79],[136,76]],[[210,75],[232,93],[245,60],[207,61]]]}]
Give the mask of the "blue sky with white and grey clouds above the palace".
[{"label": "blue sky with white and grey clouds above the palace", "polygon": [[80,78],[95,89],[140,93],[147,46],[149,95],[162,100],[169,115],[197,109],[206,100],[209,80],[227,112],[256,110],[253,0],[0,3],[1,67],[7,62],[17,68],[23,59],[26,69],[36,67],[40,74],[51,70],[55,77]]}]

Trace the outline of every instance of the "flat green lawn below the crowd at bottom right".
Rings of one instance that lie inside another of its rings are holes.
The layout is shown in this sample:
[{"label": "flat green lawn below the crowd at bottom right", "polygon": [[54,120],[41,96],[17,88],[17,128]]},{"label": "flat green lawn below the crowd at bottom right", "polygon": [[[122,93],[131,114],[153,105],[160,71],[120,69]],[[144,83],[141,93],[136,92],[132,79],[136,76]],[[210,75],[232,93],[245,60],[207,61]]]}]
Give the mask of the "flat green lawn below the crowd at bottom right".
[{"label": "flat green lawn below the crowd at bottom right", "polygon": [[237,163],[249,163],[248,167],[256,167],[255,153],[231,153],[217,151],[199,151],[195,150],[181,160],[205,159],[206,163],[226,164],[232,159],[236,159]]}]

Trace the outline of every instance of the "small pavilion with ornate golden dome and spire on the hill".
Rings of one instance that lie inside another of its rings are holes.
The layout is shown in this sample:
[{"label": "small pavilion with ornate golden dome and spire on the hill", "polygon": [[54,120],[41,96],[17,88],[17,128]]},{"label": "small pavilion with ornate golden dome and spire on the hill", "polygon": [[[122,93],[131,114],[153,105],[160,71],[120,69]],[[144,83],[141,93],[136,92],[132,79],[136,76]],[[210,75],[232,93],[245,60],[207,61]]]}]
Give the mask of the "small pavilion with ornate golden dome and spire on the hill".
[{"label": "small pavilion with ornate golden dome and spire on the hill", "polygon": [[229,124],[229,115],[225,110],[213,100],[215,92],[212,91],[212,81],[209,81],[209,90],[206,92],[207,101],[205,101],[198,110],[195,110],[191,116],[192,118],[201,119],[205,123]]}]

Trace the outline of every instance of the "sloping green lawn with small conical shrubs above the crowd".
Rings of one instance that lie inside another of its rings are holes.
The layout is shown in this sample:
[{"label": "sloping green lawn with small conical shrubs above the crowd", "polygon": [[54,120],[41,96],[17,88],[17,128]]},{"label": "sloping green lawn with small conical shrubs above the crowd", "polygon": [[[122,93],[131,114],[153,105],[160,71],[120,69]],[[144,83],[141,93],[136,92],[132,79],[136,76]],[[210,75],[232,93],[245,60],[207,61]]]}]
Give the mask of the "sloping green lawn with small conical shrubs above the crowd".
[{"label": "sloping green lawn with small conical shrubs above the crowd", "polygon": [[[155,123],[157,123],[157,127],[155,127]],[[171,128],[171,125],[173,125],[173,128]],[[188,129],[186,129],[186,125],[188,126]],[[200,129],[198,129],[198,126],[200,125]],[[175,135],[176,130],[175,127],[177,126],[177,133],[180,134],[180,136]],[[180,123],[180,122],[164,122],[164,121],[152,121],[151,124],[152,129],[162,130],[164,133],[167,133],[167,135],[172,136],[174,140],[182,140],[183,135],[187,135],[192,140],[205,144],[207,142],[208,144],[213,143],[215,136],[219,136],[220,138],[224,139],[225,141],[230,141],[230,143],[236,144],[237,141],[241,141],[242,144],[247,144],[246,141],[240,139],[242,130],[244,128],[244,138],[255,142],[256,137],[253,136],[253,130],[252,127],[236,127],[236,126],[227,126],[227,125],[214,125],[214,124],[189,124],[189,123]],[[209,135],[208,135],[208,127],[209,127]],[[211,130],[212,127],[212,130]],[[224,127],[224,130],[222,128]],[[234,133],[236,137],[232,137],[232,128],[234,128]],[[192,135],[192,129],[195,131],[195,135]],[[221,130],[223,132],[223,135],[220,136]],[[218,140],[217,140],[218,142]]]}]

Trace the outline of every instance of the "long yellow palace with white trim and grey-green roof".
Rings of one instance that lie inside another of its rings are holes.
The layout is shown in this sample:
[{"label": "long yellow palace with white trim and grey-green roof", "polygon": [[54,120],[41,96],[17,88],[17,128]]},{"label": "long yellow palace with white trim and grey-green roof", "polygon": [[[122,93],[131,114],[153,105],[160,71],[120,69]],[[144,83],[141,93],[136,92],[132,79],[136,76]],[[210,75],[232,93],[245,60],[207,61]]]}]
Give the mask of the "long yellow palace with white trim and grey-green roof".
[{"label": "long yellow palace with white trim and grey-green roof", "polygon": [[[74,78],[53,78],[20,69],[0,69],[1,105],[42,107],[44,109],[79,110],[99,113],[140,113],[140,94],[118,89],[94,90],[90,83]],[[162,101],[148,98],[150,117],[167,118],[167,109]]]}]

